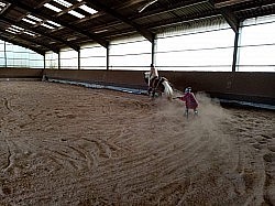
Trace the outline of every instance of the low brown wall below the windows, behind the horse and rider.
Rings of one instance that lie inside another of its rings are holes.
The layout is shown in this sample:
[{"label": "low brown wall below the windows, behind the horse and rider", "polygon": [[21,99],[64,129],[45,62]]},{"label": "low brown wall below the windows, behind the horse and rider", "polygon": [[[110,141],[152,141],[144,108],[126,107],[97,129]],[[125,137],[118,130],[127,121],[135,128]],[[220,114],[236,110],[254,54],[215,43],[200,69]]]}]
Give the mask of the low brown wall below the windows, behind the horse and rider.
[{"label": "low brown wall below the windows, behind the horse and rider", "polygon": [[[42,78],[146,89],[144,71],[75,71],[1,68],[0,78]],[[275,73],[167,72],[161,71],[174,88],[205,91],[211,97],[275,105]]]}]

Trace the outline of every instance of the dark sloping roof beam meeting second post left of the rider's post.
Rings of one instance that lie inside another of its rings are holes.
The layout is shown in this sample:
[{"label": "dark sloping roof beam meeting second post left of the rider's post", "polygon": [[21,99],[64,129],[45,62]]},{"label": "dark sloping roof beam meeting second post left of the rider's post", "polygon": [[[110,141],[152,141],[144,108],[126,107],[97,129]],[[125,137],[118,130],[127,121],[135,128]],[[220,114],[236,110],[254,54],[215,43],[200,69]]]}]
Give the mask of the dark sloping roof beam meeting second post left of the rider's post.
[{"label": "dark sloping roof beam meeting second post left of the rider's post", "polygon": [[63,44],[67,45],[68,47],[72,47],[72,48],[75,50],[75,51],[78,51],[78,50],[80,48],[80,46],[75,45],[75,44],[72,44],[72,43],[69,43],[69,42],[67,42],[67,41],[65,41],[65,40],[63,40],[63,39],[55,37],[55,36],[51,35],[51,34],[48,34],[48,33],[41,32],[41,31],[38,31],[38,30],[34,29],[34,28],[24,26],[24,25],[22,25],[21,23],[15,22],[15,21],[13,21],[13,20],[10,20],[10,19],[8,19],[8,18],[4,18],[4,17],[2,17],[2,15],[0,15],[0,20],[4,21],[4,22],[7,22],[7,23],[13,24],[13,25],[23,28],[23,29],[25,29],[25,30],[28,30],[28,31],[37,33],[37,34],[40,34],[40,35],[42,35],[42,36],[46,36],[46,37],[48,37],[48,39],[51,39],[51,40],[54,40],[54,41],[57,41],[57,42],[62,42]]}]

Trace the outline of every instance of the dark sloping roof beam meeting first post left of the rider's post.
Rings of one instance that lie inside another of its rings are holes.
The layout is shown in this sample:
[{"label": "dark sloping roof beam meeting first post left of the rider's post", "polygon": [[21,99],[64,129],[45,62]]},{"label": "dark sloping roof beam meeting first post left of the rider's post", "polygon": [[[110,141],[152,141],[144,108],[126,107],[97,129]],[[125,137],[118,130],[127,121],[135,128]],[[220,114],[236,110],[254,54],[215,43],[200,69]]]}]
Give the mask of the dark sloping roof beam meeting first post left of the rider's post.
[{"label": "dark sloping roof beam meeting first post left of the rider's post", "polygon": [[61,24],[62,26],[64,28],[68,28],[70,29],[72,31],[74,32],[77,32],[77,33],[80,33],[82,35],[86,35],[88,36],[89,39],[91,39],[92,41],[96,41],[97,43],[99,43],[100,45],[102,45],[103,47],[107,47],[108,46],[108,42],[103,39],[101,39],[99,35],[95,34],[95,33],[91,33],[91,32],[87,32],[87,31],[82,31],[80,30],[79,28],[73,25],[73,24],[69,24],[67,22],[64,22],[64,21],[61,21],[58,18],[55,18],[55,17],[51,17],[51,15],[47,15],[47,14],[44,14],[44,13],[41,13],[40,11],[37,11],[36,9],[33,9],[24,3],[22,3],[21,1],[15,1],[15,0],[7,0],[8,2],[28,11],[28,12],[31,12],[37,17],[41,17],[43,19],[46,19],[46,20],[51,20],[51,21],[54,21],[58,24]]}]

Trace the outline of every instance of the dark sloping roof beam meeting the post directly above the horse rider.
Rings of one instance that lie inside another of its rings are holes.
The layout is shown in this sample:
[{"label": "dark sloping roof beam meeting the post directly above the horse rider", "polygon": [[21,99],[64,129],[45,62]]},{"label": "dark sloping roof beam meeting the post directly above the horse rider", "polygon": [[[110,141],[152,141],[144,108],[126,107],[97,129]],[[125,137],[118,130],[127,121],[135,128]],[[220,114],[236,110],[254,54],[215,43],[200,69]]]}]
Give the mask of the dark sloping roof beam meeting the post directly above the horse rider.
[{"label": "dark sloping roof beam meeting the post directly above the horse rider", "polygon": [[133,21],[129,20],[128,18],[121,15],[120,13],[118,13],[113,9],[110,9],[106,4],[102,4],[101,1],[99,1],[99,0],[86,0],[86,3],[95,9],[101,10],[101,11],[108,13],[109,15],[112,15],[113,18],[133,26],[140,34],[142,34],[150,42],[154,41],[154,34],[152,32],[140,26],[139,24],[134,23]]}]

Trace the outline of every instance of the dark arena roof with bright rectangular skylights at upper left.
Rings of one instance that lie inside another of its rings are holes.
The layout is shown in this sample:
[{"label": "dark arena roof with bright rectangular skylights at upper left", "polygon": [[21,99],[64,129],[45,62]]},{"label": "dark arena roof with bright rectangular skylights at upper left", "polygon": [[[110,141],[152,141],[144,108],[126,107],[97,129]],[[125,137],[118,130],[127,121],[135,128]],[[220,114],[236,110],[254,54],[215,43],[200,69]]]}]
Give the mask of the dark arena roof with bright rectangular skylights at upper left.
[{"label": "dark arena roof with bright rectangular skylights at upper left", "polygon": [[[188,22],[193,24],[195,20],[198,22],[209,17],[212,17],[212,20],[223,17],[223,21],[226,19],[234,23],[248,18],[275,14],[274,0],[87,0],[82,2],[64,0],[65,3],[55,0],[0,0],[0,2],[2,39],[30,48],[40,47],[41,53],[67,46],[77,50],[88,42],[107,46],[108,42],[117,36],[133,33],[152,41],[156,32],[179,24],[188,25]],[[142,9],[144,7],[145,9]],[[92,13],[95,10],[96,13]],[[30,15],[38,20],[30,19]],[[61,26],[53,25],[48,23],[50,21]],[[6,31],[13,24],[38,35],[33,36],[31,41],[26,34]],[[48,44],[51,47],[43,44]]]}]

